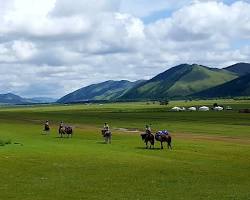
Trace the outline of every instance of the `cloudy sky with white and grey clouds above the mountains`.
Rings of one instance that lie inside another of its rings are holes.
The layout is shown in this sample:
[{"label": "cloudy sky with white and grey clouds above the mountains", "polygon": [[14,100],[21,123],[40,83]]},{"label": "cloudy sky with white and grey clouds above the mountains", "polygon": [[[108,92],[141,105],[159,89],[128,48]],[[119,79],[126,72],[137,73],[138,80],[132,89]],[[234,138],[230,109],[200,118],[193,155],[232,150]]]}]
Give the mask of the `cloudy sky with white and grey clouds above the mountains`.
[{"label": "cloudy sky with white and grey clouds above the mountains", "polygon": [[57,98],[236,62],[250,62],[250,1],[0,0],[0,93]]}]

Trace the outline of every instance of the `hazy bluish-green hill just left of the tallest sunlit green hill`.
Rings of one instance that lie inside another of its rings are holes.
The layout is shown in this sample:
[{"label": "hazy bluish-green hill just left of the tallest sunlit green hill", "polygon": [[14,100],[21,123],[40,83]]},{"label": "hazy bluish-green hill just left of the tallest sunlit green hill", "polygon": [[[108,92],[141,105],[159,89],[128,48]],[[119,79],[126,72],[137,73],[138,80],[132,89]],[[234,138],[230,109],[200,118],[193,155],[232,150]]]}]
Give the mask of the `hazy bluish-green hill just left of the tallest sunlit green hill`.
[{"label": "hazy bluish-green hill just left of the tallest sunlit green hill", "polygon": [[106,81],[103,83],[93,84],[76,90],[61,99],[58,103],[74,103],[89,100],[113,100],[122,96],[128,89],[140,84],[144,81],[130,82],[122,81]]}]

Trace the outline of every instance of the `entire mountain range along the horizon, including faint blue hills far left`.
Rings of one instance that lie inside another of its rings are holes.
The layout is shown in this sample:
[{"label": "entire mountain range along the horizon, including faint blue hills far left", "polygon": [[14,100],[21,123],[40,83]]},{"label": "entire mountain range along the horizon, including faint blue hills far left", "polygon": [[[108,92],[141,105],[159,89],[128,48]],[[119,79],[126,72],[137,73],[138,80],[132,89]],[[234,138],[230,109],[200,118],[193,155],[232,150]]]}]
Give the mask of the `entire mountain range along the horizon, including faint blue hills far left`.
[{"label": "entire mountain range along the horizon, including faint blue hills far left", "polygon": [[[86,101],[137,101],[185,98],[250,96],[250,64],[237,63],[223,69],[197,64],[172,67],[150,80],[105,81],[80,88],[57,103]],[[51,103],[50,98],[22,98],[0,94],[0,104]]]}]

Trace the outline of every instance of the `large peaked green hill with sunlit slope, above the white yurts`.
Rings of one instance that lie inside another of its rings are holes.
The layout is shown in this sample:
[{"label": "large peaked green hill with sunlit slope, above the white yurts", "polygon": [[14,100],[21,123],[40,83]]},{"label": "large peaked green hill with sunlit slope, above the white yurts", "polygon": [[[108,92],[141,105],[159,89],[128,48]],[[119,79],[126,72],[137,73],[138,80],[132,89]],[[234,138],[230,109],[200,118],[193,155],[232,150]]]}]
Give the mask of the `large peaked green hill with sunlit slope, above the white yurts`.
[{"label": "large peaked green hill with sunlit slope, above the white yurts", "polygon": [[133,87],[120,99],[182,98],[235,78],[227,70],[182,64]]}]

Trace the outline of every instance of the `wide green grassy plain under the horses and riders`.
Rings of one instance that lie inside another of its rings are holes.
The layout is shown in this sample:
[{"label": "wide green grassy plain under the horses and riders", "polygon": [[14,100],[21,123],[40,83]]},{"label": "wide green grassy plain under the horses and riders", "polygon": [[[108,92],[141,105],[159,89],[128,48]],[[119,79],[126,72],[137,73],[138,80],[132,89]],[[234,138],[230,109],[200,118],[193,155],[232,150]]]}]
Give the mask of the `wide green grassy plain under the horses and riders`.
[{"label": "wide green grassy plain under the horses and riders", "polygon": [[[169,112],[215,102],[234,110]],[[240,108],[250,101],[2,107],[0,199],[250,199],[250,114]],[[58,137],[61,120],[73,138]],[[111,145],[100,135],[106,121]],[[146,123],[170,130],[174,149],[146,150],[139,132],[119,129]]]}]

